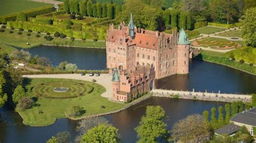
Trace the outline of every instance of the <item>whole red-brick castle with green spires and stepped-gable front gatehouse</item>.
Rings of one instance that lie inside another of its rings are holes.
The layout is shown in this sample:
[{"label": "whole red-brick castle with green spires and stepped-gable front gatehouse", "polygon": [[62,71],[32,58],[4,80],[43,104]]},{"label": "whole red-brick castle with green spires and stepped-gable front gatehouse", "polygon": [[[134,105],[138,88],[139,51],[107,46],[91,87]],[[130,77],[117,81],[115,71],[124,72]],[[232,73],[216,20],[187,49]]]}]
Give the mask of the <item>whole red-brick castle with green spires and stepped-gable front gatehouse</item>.
[{"label": "whole red-brick castle with green spires and stepped-gable front gatehouse", "polygon": [[172,34],[129,25],[110,25],[106,37],[107,69],[113,74],[112,99],[127,102],[153,88],[153,80],[188,74],[190,41],[182,29]]}]

